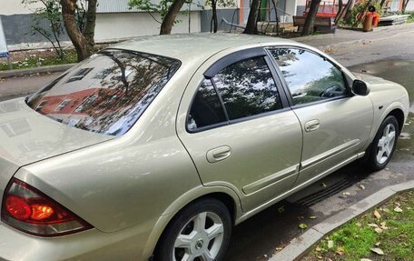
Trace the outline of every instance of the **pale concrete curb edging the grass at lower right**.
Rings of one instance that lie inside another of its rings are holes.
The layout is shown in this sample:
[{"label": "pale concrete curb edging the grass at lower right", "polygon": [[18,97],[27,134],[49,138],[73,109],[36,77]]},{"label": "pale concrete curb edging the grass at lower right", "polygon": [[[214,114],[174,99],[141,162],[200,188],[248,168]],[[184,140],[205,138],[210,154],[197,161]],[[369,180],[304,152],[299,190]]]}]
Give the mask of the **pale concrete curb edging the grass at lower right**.
[{"label": "pale concrete curb edging the grass at lower right", "polygon": [[300,260],[301,257],[308,253],[312,246],[316,245],[323,236],[327,235],[332,230],[344,225],[351,219],[368,212],[371,208],[384,203],[389,200],[391,196],[413,188],[414,180],[398,185],[386,186],[380,189],[378,192],[365,197],[357,204],[342,210],[334,216],[330,216],[330,218],[316,226],[312,226],[301,236],[292,239],[288,246],[271,256],[268,261]]}]

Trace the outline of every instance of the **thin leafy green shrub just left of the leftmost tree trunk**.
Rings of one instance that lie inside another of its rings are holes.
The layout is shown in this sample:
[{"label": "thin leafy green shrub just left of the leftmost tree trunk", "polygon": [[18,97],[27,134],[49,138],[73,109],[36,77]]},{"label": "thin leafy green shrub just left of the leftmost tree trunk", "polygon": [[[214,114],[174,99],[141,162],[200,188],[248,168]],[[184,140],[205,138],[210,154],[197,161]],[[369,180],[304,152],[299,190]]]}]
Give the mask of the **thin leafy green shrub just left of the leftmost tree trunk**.
[{"label": "thin leafy green shrub just left of the leftmost tree trunk", "polygon": [[[64,51],[60,45],[59,37],[64,35],[64,25],[61,15],[61,5],[59,0],[22,0],[22,4],[42,4],[41,7],[34,9],[34,21],[32,24],[33,35],[38,33],[54,46],[54,50],[60,59],[64,59]],[[47,21],[48,27],[44,27]]]}]

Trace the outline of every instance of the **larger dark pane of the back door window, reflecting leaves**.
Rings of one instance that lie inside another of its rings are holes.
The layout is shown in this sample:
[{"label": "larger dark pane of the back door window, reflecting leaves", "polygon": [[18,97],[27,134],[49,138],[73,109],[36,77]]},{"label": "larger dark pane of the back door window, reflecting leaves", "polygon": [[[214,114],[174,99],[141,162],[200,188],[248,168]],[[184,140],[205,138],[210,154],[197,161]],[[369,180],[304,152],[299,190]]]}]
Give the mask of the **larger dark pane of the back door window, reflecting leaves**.
[{"label": "larger dark pane of the back door window, reflecting leaves", "polygon": [[262,56],[229,65],[212,80],[222,96],[230,120],[260,115],[282,107],[271,71]]}]

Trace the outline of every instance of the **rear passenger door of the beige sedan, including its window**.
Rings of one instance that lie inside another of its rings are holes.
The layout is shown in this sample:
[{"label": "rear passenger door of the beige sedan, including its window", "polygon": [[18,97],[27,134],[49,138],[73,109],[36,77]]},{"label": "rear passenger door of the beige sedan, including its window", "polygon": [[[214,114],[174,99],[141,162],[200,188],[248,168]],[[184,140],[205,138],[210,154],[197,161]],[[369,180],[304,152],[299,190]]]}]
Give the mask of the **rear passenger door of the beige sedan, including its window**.
[{"label": "rear passenger door of the beige sedan, including its window", "polygon": [[193,75],[177,133],[204,186],[228,186],[249,211],[291,189],[301,125],[262,48],[226,55]]}]

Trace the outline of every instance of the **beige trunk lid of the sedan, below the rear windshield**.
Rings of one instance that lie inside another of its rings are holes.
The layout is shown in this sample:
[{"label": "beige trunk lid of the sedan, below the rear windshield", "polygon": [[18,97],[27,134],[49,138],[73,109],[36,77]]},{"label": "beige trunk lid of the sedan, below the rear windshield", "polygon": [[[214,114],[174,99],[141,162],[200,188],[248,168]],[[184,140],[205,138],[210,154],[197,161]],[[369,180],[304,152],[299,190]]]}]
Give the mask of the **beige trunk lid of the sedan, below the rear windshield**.
[{"label": "beige trunk lid of the sedan, below the rear windshield", "polygon": [[23,98],[0,103],[0,201],[17,169],[113,139],[41,115]]}]

